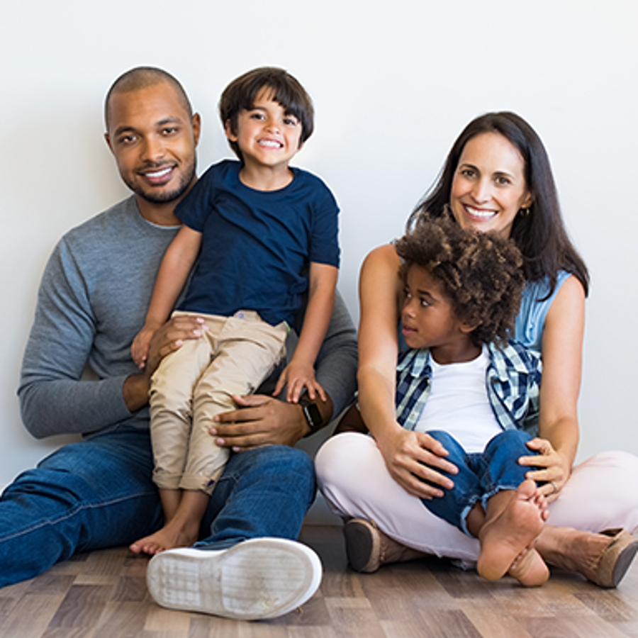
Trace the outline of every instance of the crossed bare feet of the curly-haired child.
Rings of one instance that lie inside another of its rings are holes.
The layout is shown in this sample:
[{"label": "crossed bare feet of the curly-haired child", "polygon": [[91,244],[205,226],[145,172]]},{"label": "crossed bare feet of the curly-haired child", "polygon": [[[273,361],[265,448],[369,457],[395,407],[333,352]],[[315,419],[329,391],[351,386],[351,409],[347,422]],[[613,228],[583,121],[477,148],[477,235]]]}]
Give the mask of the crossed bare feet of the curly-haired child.
[{"label": "crossed bare feet of the curly-haired child", "polygon": [[[508,493],[508,503],[493,518],[490,517],[491,503],[488,503],[487,519],[478,533],[481,554],[478,556],[476,569],[488,581],[496,581],[508,573],[523,550],[531,547],[547,520],[547,503],[534,481],[527,479],[516,491]],[[502,500],[508,498],[507,493],[503,492],[497,493],[492,499],[497,497]],[[528,559],[522,556],[523,564],[514,566],[515,572],[520,573],[526,581],[538,578],[531,576],[532,572],[536,574],[539,571],[538,565],[532,564],[535,553]]]}]

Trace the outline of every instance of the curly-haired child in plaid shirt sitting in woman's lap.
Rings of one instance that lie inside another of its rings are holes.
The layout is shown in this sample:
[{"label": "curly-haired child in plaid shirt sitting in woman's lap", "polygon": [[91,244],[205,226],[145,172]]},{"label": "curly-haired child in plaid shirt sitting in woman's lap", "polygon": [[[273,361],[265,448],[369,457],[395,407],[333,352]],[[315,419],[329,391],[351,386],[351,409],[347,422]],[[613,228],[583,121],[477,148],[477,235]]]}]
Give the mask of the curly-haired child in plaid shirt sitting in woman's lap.
[{"label": "curly-haired child in plaid shirt sitting in woman's lap", "polygon": [[535,427],[540,362],[508,342],[525,286],[520,253],[445,218],[420,224],[396,252],[410,347],[397,366],[397,420],[440,441],[458,469],[442,472],[454,488],[423,503],[478,538],[481,576],[541,585],[549,571],[532,544],[547,503],[517,464],[530,454],[520,428]]}]

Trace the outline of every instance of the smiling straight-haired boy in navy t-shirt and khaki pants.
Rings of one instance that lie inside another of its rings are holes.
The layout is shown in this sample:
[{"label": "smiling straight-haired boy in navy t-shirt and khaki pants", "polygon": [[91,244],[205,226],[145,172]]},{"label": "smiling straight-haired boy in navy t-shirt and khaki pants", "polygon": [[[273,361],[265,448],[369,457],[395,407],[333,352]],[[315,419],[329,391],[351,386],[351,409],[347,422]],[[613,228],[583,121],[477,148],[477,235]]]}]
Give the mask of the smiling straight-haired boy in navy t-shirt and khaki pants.
[{"label": "smiling straight-haired boy in navy t-shirt and khaki pants", "polygon": [[[146,322],[132,347],[144,366],[152,335],[167,320],[191,267],[179,313],[204,318],[205,337],[162,360],[150,390],[154,480],[166,524],[133,543],[157,554],[196,541],[228,452],[208,433],[233,396],[254,391],[284,356],[288,325],[308,293],[287,384],[325,400],[313,364],[334,304],[339,266],[338,208],[320,179],[289,162],[313,132],[310,96],[283,69],[254,69],[220,99],[220,118],[239,161],[210,167],[175,211],[179,233],[159,269]],[[170,135],[170,127],[167,128]],[[158,162],[157,179],[172,170]],[[192,423],[192,427],[191,427]]]}]

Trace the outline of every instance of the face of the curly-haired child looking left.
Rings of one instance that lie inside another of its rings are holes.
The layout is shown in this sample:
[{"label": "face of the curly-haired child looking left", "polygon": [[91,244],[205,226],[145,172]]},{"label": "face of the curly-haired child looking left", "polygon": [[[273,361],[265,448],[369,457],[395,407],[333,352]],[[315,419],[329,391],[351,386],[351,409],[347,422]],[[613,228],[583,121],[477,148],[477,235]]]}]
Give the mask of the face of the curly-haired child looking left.
[{"label": "face of the curly-haired child looking left", "polygon": [[405,279],[401,323],[405,343],[410,348],[451,346],[451,352],[456,352],[457,346],[466,343],[468,337],[468,330],[454,315],[452,302],[442,293],[442,286],[417,265],[410,266]]}]

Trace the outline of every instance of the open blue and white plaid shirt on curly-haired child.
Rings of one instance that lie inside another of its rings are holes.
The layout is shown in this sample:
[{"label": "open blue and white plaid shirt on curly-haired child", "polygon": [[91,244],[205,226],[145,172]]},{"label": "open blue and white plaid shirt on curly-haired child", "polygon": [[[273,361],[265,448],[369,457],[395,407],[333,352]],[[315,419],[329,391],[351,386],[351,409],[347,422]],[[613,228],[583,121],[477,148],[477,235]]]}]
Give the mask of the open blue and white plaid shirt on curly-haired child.
[{"label": "open blue and white plaid shirt on curly-haired child", "polygon": [[[541,361],[538,354],[515,341],[499,349],[488,345],[490,365],[486,386],[492,410],[503,430],[538,432]],[[410,349],[396,366],[396,414],[406,430],[414,430],[430,396],[430,350]]]}]

